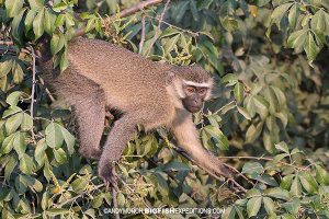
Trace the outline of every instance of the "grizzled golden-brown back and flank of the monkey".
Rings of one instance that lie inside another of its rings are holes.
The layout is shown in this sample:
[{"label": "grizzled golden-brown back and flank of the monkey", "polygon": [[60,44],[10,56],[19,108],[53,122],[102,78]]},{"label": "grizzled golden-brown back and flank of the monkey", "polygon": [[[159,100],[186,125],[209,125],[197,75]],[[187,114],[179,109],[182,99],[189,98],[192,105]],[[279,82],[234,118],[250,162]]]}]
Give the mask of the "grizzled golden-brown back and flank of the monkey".
[{"label": "grizzled golden-brown back and flank of the monkey", "polygon": [[[124,110],[127,105],[146,104],[140,100],[167,99],[168,65],[150,61],[104,41],[82,37],[70,42],[68,59],[70,66],[67,73],[79,73],[100,84],[110,103],[120,103],[114,107]],[[59,77],[61,82],[69,82],[66,72],[63,74]]]}]

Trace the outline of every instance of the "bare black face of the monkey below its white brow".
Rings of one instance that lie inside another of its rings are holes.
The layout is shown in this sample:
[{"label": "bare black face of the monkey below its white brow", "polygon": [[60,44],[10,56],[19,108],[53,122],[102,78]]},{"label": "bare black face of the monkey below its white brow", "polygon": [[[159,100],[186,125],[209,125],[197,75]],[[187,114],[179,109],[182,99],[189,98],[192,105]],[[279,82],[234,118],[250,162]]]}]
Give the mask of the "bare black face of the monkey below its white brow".
[{"label": "bare black face of the monkey below its white brow", "polygon": [[183,88],[186,97],[182,100],[183,106],[191,113],[201,111],[208,88],[185,85]]}]

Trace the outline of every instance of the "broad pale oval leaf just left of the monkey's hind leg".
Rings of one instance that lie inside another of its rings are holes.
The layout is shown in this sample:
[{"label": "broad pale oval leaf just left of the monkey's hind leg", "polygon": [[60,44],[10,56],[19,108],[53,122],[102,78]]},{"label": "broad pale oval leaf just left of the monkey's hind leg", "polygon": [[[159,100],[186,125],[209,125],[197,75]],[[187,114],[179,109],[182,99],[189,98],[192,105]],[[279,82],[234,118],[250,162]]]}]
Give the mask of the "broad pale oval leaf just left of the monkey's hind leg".
[{"label": "broad pale oval leaf just left of the monkey's hind leg", "polygon": [[50,148],[60,148],[64,141],[61,126],[50,123],[45,130],[46,142]]}]

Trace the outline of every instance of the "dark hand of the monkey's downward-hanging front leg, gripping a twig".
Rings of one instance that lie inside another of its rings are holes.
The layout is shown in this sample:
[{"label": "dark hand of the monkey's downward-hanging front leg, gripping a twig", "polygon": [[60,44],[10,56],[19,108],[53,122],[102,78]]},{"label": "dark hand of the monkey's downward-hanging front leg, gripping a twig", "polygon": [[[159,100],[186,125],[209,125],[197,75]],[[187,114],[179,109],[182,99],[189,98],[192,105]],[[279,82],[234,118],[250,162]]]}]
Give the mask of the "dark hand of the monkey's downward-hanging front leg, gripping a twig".
[{"label": "dark hand of the monkey's downward-hanging front leg, gripping a twig", "polygon": [[100,163],[99,163],[99,176],[105,183],[106,188],[109,188],[109,186],[112,186],[116,191],[118,191],[117,174],[115,172],[115,166],[114,166],[113,162],[102,162],[102,161],[100,161]]}]

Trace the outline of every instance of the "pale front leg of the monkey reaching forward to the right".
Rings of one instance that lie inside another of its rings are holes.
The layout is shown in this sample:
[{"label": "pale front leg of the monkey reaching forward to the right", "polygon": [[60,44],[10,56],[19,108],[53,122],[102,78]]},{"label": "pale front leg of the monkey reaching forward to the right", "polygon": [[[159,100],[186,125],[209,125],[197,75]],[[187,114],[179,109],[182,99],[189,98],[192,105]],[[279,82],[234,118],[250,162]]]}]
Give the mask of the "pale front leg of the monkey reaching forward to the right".
[{"label": "pale front leg of the monkey reaching forward to the right", "polygon": [[[184,119],[182,119],[182,117],[184,117]],[[171,129],[179,146],[189,153],[200,168],[215,175],[231,177],[231,171],[227,169],[220,160],[202,147],[190,115],[181,115],[180,118],[173,123]]]}]

